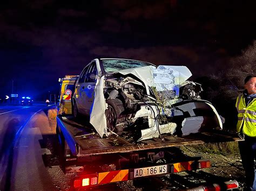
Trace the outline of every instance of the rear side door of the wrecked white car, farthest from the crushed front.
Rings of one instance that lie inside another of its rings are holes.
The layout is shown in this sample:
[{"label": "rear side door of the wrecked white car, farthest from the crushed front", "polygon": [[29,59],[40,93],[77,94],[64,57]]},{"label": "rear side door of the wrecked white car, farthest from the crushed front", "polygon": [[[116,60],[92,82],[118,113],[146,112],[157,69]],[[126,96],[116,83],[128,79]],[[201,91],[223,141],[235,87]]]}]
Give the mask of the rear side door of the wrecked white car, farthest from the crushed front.
[{"label": "rear side door of the wrecked white car, farthest from the crushed front", "polygon": [[88,68],[89,68],[90,65],[87,65],[82,73],[80,74],[79,76],[79,79],[77,80],[77,83],[76,83],[76,89],[75,89],[75,100],[76,100],[76,104],[77,104],[77,109],[78,109],[78,112],[80,114],[83,114],[85,115],[86,112],[85,112],[85,108],[84,108],[84,101],[83,101],[83,97],[84,97],[84,94],[85,94],[85,77],[86,77],[86,73],[88,71]]}]

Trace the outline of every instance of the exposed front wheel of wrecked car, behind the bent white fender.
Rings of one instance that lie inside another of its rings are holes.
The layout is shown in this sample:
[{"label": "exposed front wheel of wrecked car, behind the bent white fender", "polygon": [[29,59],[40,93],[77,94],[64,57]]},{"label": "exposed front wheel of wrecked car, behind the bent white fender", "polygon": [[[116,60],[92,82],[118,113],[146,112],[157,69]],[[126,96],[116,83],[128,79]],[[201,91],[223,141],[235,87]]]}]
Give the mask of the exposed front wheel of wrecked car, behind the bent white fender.
[{"label": "exposed front wheel of wrecked car, behind the bent white fender", "polygon": [[107,128],[116,132],[117,135],[122,135],[125,125],[119,123],[125,121],[123,102],[118,99],[109,99],[106,103],[108,104],[105,111]]}]

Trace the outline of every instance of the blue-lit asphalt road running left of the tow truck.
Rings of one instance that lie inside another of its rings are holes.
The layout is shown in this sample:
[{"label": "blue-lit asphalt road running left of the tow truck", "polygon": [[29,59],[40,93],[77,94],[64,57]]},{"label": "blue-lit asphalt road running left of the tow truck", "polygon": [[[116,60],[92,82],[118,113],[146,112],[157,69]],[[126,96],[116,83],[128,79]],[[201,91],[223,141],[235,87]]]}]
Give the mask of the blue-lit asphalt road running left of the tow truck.
[{"label": "blue-lit asphalt road running left of the tow truck", "polygon": [[[53,190],[45,173],[40,118],[47,118],[44,104],[0,105],[0,190]],[[46,120],[45,122],[48,122]],[[51,132],[51,129],[50,131]]]}]

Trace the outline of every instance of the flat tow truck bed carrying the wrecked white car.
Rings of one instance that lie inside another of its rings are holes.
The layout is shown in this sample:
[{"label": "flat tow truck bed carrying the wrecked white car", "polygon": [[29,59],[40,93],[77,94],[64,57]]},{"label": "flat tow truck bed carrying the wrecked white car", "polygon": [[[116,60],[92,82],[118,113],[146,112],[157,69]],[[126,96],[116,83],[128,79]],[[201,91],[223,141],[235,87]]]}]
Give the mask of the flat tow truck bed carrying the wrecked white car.
[{"label": "flat tow truck bed carrying the wrecked white car", "polygon": [[100,138],[97,133],[93,132],[93,128],[76,122],[72,117],[57,117],[57,126],[63,133],[72,155],[77,157],[240,140],[235,133],[214,130],[184,137],[161,135],[161,138],[143,140],[137,143],[117,136]]}]

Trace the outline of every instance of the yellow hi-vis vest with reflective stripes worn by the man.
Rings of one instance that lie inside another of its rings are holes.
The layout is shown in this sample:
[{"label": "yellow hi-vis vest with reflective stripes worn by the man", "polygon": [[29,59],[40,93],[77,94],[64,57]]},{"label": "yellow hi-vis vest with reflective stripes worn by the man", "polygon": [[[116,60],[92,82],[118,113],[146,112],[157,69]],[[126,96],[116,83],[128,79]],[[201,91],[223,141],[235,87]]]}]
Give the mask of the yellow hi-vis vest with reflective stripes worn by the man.
[{"label": "yellow hi-vis vest with reflective stripes worn by the man", "polygon": [[256,98],[247,105],[244,95],[237,97],[238,123],[237,132],[242,132],[250,137],[256,137]]}]

